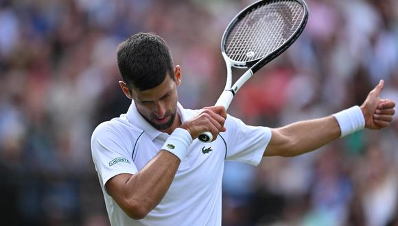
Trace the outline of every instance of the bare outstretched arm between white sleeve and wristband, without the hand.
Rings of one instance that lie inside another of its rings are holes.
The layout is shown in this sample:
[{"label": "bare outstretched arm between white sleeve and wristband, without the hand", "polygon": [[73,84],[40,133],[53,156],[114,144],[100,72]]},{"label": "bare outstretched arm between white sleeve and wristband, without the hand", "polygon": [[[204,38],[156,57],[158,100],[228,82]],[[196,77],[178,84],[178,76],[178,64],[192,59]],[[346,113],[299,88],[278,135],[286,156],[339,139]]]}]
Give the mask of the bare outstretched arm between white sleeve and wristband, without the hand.
[{"label": "bare outstretched arm between white sleeve and wristband, without the hand", "polygon": [[340,138],[341,133],[333,116],[292,123],[271,131],[272,137],[264,156],[301,155]]}]

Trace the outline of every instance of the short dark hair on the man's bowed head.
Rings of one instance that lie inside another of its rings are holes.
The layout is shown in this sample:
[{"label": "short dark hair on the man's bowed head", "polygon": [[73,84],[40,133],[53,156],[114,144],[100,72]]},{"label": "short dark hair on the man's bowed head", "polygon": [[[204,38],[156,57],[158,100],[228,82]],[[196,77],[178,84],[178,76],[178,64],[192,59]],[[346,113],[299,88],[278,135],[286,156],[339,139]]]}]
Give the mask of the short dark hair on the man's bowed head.
[{"label": "short dark hair on the man's bowed head", "polygon": [[128,88],[148,90],[167,75],[174,80],[173,59],[165,40],[155,34],[134,34],[117,48],[117,66]]}]

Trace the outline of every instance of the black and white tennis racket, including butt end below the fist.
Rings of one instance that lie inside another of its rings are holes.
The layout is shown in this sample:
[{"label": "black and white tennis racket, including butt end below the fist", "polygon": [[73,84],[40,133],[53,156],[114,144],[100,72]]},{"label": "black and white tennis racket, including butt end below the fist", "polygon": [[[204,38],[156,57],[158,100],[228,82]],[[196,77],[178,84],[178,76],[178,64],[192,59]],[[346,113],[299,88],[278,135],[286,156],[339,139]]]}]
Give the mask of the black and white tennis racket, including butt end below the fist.
[{"label": "black and white tennis racket, including butt end below the fist", "polygon": [[[239,12],[222,35],[221,53],[227,77],[224,92],[215,105],[228,109],[237,90],[299,38],[307,18],[308,8],[303,0],[261,0]],[[233,86],[232,67],[250,67]],[[198,138],[211,142],[213,135],[207,131]]]}]

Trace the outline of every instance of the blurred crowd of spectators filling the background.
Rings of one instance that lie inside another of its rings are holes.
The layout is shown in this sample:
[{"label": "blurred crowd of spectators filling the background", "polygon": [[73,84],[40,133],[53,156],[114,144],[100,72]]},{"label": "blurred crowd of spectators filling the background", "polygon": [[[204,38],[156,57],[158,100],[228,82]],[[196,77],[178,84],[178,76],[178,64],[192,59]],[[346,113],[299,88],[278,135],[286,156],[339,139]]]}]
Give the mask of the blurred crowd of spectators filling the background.
[{"label": "blurred crowd of spectators filling the background", "polygon": [[[117,45],[137,32],[163,37],[182,68],[180,103],[212,105],[226,75],[222,33],[251,2],[0,0],[1,224],[108,225],[90,138],[130,104]],[[398,101],[398,1],[307,4],[302,36],[229,114],[268,127],[327,116],[360,105],[379,79],[382,98]],[[397,147],[393,121],[299,157],[228,163],[223,225],[398,225]]]}]

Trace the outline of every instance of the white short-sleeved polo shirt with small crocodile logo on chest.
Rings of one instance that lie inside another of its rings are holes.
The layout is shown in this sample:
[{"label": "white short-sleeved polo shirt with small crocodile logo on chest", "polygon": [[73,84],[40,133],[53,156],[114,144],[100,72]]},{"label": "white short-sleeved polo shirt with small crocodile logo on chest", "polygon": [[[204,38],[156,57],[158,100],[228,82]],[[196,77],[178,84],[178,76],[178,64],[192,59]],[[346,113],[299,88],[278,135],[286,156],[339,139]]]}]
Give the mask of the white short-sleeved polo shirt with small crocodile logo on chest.
[{"label": "white short-sleeved polo shirt with small crocodile logo on chest", "polygon": [[[197,110],[178,114],[185,122]],[[111,225],[221,225],[222,174],[224,161],[257,165],[271,138],[268,127],[245,125],[228,115],[226,131],[210,143],[194,140],[187,158],[180,163],[161,203],[145,218],[134,220],[108,195],[105,184],[121,173],[137,173],[159,152],[168,134],[152,127],[137,112],[134,102],[127,114],[97,126],[91,138],[91,152],[100,179]]]}]

